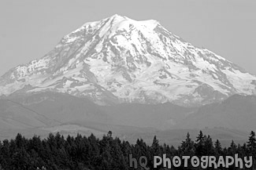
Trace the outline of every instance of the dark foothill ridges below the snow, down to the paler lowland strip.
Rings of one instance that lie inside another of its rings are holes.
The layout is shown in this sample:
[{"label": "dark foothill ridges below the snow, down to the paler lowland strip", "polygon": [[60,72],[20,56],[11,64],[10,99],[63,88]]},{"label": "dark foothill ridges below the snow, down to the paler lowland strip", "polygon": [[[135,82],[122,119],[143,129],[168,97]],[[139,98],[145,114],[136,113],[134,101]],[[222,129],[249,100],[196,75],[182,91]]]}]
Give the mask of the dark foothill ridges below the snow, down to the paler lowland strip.
[{"label": "dark foothill ridges below the snow, down to the paler lowland strip", "polygon": [[158,129],[230,128],[250,131],[256,129],[255,110],[256,96],[235,95],[221,103],[202,107],[181,107],[172,103],[98,106],[88,99],[43,92],[0,99],[0,128],[46,129],[59,125],[84,125],[87,128],[94,125],[97,128],[104,124]]}]

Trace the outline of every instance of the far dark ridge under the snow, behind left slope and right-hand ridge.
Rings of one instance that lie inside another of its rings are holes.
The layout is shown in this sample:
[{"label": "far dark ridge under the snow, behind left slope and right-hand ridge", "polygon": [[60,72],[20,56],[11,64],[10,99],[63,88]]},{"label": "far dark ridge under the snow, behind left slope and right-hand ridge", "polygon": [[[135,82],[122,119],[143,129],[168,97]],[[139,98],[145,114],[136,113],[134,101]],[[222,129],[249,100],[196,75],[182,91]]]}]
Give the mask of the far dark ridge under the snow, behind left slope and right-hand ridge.
[{"label": "far dark ridge under the snow, behind left slope and right-hand ridge", "polygon": [[[139,103],[123,103],[114,106],[98,106],[88,99],[81,99],[56,92],[42,92],[29,96],[9,96],[0,100],[0,106],[6,102],[19,103],[20,106],[33,110],[58,124],[80,123],[87,125],[94,122],[107,125],[127,125],[133,127],[171,128],[195,108],[176,106],[172,103],[147,105]],[[6,105],[5,110],[13,110]],[[9,112],[3,110],[2,115]],[[20,110],[13,110],[19,115]],[[23,113],[23,112],[22,112]],[[22,113],[20,116],[22,117]],[[49,127],[50,125],[39,125]]]}]

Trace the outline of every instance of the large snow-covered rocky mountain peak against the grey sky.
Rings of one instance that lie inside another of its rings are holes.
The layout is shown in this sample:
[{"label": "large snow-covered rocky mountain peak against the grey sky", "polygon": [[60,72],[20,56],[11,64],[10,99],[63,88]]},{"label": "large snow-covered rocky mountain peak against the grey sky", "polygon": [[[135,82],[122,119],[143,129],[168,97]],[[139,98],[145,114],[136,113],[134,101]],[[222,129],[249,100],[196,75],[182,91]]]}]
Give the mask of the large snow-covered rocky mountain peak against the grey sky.
[{"label": "large snow-covered rocky mountain peak against the grey sky", "polygon": [[156,20],[83,24],[39,60],[0,78],[0,96],[65,92],[95,103],[213,103],[256,94],[256,77],[185,42]]}]

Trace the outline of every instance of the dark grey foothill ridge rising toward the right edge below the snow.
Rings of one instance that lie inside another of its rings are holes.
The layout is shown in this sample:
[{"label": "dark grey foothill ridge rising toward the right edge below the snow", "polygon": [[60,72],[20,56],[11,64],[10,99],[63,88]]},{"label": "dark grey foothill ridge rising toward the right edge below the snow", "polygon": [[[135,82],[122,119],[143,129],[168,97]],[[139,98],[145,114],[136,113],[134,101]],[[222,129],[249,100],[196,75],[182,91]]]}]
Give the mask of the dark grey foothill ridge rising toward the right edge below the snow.
[{"label": "dark grey foothill ridge rising toward the right edge below the snow", "polygon": [[234,95],[221,103],[199,107],[180,121],[175,128],[256,129],[256,96]]}]

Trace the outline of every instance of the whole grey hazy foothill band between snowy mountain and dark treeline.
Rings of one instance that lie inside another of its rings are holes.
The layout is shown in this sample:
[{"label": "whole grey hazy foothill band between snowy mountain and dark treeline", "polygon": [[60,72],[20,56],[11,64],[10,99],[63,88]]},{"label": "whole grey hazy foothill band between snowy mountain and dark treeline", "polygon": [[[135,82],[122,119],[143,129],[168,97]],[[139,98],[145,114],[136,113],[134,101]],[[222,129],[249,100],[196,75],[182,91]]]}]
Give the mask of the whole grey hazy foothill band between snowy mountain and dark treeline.
[{"label": "whole grey hazy foothill band between snowy mountain and dark treeline", "polygon": [[[0,139],[22,132],[47,136],[49,132],[102,136],[113,134],[133,141],[157,135],[165,143],[180,143],[186,132],[204,129],[213,139],[245,141],[256,129],[255,96],[231,96],[221,103],[203,107],[180,107],[172,103],[124,103],[98,106],[89,99],[44,92],[0,99]],[[180,136],[179,134],[183,134]]]}]

